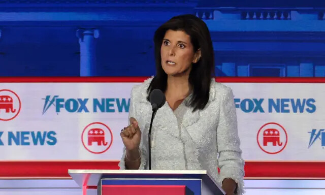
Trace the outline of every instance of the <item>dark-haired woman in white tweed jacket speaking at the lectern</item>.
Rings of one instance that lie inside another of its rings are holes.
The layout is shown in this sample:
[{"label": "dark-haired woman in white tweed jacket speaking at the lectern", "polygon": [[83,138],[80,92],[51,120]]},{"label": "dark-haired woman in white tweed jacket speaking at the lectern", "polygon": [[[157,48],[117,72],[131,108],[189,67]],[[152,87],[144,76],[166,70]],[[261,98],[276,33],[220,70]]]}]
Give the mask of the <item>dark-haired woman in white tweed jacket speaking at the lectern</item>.
[{"label": "dark-haired woman in white tweed jacket speaking at the lectern", "polygon": [[154,44],[156,76],[132,89],[120,169],[148,169],[148,95],[158,88],[167,102],[152,125],[152,169],[207,170],[227,194],[242,194],[244,160],[234,97],[213,79],[208,27],[196,16],[176,16],[156,30]]}]

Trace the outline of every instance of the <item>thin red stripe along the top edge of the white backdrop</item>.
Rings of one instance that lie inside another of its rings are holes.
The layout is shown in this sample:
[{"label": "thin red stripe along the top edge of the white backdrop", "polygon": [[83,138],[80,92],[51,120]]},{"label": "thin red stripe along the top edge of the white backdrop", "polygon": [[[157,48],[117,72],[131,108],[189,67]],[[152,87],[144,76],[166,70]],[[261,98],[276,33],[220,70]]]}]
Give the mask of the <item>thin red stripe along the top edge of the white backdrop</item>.
[{"label": "thin red stripe along the top edge of the white backdrop", "polygon": [[[143,82],[149,77],[0,77],[0,83]],[[216,77],[224,83],[325,83],[324,77]]]}]

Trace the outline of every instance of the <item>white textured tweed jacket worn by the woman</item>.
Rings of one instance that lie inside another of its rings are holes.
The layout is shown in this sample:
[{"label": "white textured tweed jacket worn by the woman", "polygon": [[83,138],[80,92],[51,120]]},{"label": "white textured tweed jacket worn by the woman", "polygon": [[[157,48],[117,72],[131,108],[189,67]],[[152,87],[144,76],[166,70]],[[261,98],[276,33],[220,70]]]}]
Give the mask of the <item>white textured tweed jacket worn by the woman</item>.
[{"label": "white textured tweed jacket worn by the woman", "polygon": [[[152,109],[147,88],[152,78],[132,89],[129,117],[142,132],[141,165],[148,169],[148,131]],[[209,102],[203,110],[186,109],[180,128],[173,110],[166,103],[153,120],[151,129],[152,170],[207,170],[219,184],[224,178],[238,183],[243,193],[244,160],[237,133],[237,116],[231,88],[211,81]],[[119,163],[125,169],[125,148]],[[218,173],[217,168],[220,168]]]}]

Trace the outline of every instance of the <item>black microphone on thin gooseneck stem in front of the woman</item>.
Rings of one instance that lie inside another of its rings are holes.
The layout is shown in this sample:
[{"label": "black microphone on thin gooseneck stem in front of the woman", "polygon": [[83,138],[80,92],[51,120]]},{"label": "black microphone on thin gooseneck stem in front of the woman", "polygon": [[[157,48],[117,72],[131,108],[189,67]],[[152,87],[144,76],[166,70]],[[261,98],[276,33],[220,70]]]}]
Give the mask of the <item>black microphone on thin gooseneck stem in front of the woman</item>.
[{"label": "black microphone on thin gooseneck stem in front of the woman", "polygon": [[151,170],[151,127],[152,127],[152,122],[153,118],[156,115],[156,112],[159,108],[163,107],[165,102],[166,102],[166,97],[163,91],[160,89],[153,89],[149,95],[149,101],[152,106],[152,115],[151,115],[151,122],[150,122],[150,127],[149,127],[149,133],[148,133],[148,144],[149,144],[149,170]]}]

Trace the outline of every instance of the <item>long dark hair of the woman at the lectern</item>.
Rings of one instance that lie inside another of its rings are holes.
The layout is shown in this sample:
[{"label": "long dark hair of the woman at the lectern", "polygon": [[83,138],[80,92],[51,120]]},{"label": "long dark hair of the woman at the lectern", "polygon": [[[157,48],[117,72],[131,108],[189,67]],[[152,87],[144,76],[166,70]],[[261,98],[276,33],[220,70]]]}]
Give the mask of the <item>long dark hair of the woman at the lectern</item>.
[{"label": "long dark hair of the woman at the lectern", "polygon": [[163,44],[167,30],[183,30],[190,36],[194,52],[201,49],[201,58],[197,63],[193,63],[189,73],[188,82],[192,87],[192,94],[188,100],[188,106],[193,108],[193,112],[203,110],[209,101],[209,91],[211,79],[214,77],[214,57],[213,47],[209,29],[200,18],[186,14],[175,16],[161,25],[154,34],[154,49],[156,76],[152,79],[148,89],[148,97],[153,89],[160,89],[166,92],[167,74],[161,67],[160,48]]}]

